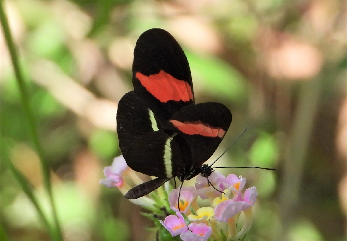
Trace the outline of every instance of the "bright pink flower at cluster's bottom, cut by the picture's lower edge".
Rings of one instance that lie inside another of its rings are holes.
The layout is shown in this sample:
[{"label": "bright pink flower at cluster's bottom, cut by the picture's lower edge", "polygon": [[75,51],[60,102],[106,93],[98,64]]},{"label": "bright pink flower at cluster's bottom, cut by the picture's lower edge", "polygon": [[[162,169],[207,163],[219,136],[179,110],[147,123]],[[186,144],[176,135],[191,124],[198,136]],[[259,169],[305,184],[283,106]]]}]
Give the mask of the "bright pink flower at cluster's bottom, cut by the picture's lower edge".
[{"label": "bright pink flower at cluster's bottom, cut by the picture's lower edge", "polygon": [[206,241],[212,233],[212,228],[205,223],[194,222],[188,228],[190,231],[180,235],[183,241]]}]

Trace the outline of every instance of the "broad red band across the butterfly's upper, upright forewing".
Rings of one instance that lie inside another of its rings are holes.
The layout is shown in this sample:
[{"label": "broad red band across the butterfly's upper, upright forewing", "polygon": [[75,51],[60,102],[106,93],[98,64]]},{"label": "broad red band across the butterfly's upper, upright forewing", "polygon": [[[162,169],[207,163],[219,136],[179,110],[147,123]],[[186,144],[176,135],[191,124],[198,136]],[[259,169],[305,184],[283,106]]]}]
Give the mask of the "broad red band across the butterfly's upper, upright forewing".
[{"label": "broad red band across the butterfly's upper, upright forewing", "polygon": [[160,102],[193,100],[192,88],[186,81],[178,80],[162,70],[158,74],[150,76],[137,72],[135,76],[143,87]]}]

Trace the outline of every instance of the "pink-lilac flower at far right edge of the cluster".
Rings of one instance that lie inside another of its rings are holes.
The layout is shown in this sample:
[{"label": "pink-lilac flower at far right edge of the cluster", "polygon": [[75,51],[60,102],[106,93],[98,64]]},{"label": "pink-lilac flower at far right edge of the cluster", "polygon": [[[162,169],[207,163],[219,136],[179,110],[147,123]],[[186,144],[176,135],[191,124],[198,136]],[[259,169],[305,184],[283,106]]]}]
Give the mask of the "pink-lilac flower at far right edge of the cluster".
[{"label": "pink-lilac flower at far right edge of the cluster", "polygon": [[234,217],[237,213],[244,211],[251,207],[255,202],[258,195],[256,187],[246,189],[244,198],[241,193],[238,193],[234,199],[226,200],[219,203],[214,208],[214,217],[218,221],[227,222],[230,218]]}]

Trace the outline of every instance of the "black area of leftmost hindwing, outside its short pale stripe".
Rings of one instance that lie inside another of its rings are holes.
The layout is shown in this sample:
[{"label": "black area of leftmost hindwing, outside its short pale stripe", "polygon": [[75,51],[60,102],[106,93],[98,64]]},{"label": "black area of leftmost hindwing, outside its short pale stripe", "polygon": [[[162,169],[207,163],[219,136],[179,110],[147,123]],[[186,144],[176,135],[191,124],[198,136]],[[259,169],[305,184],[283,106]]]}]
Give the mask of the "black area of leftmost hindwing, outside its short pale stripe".
[{"label": "black area of leftmost hindwing, outside its short pale stripe", "polygon": [[[118,103],[117,109],[117,133],[119,148],[127,159],[129,146],[134,141],[149,132],[153,132],[152,122],[149,118],[151,108],[144,102],[135,91],[126,93]],[[160,120],[155,117],[158,129],[162,128]]]}]

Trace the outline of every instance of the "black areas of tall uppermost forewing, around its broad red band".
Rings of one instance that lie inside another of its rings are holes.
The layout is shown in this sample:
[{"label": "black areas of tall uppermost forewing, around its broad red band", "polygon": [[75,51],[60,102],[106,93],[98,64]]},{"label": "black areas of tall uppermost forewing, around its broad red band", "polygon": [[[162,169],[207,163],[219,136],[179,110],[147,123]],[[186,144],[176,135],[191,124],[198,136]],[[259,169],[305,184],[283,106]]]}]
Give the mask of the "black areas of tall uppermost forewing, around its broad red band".
[{"label": "black areas of tall uppermost forewing, around its broad red band", "polygon": [[[193,100],[161,103],[146,91],[136,77],[137,72],[149,76],[160,71],[169,73],[178,80],[188,83],[193,93]],[[167,31],[152,28],[138,38],[134,50],[133,86],[137,94],[142,96],[144,101],[149,102],[153,112],[158,114],[162,122],[166,122],[172,114],[183,106],[194,103],[192,75],[187,57],[175,38]]]}]

